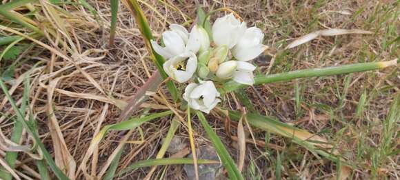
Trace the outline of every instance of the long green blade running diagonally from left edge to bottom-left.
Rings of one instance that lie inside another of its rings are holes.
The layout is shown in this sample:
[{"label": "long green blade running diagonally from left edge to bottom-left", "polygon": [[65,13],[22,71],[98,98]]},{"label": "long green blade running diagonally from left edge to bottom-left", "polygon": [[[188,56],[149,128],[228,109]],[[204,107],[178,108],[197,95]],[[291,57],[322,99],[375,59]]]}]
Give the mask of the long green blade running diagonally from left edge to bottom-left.
[{"label": "long green blade running diagonally from left edge to bottom-left", "polygon": [[[17,119],[24,119],[23,118],[23,114],[21,113],[21,111],[19,110],[19,108],[17,107],[17,104],[15,103],[14,99],[12,99],[10,93],[8,93],[8,88],[6,87],[6,85],[3,83],[3,80],[0,79],[0,86],[1,89],[3,90],[4,94],[6,94],[6,98],[8,99],[8,101],[10,102],[12,109],[14,110],[15,114],[17,114]],[[36,134],[36,131],[34,130],[34,128],[32,127],[32,125],[28,125],[28,123],[26,121],[19,121],[20,123],[22,123],[23,128],[26,129],[26,131],[30,134],[30,136],[32,136],[32,138],[34,139],[35,143],[37,144],[37,146],[39,146],[41,152],[43,153],[43,157],[44,159],[46,159],[46,162],[48,163],[48,166],[50,166],[50,168],[52,169],[52,171],[54,172],[54,174],[57,176],[57,178],[59,179],[68,179],[68,177],[66,177],[66,174],[64,174],[56,165],[56,163],[54,162],[54,160],[52,159],[52,155],[48,152],[48,150],[46,150],[46,147],[44,146],[43,143],[41,143],[41,139],[39,138],[39,135]]]}]

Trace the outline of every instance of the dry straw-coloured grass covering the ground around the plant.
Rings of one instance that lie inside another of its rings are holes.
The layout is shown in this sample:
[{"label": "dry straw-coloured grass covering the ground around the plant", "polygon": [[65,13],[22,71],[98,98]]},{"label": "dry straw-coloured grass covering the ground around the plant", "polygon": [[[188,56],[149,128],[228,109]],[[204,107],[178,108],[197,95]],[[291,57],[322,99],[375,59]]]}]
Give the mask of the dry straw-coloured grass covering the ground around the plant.
[{"label": "dry straw-coloured grass covering the ground around the plant", "polygon": [[[146,1],[150,7],[142,4],[156,36],[166,30],[168,23],[186,23],[189,17],[196,17],[194,2],[167,2],[168,6],[155,0]],[[110,4],[108,1],[90,3],[97,10],[99,22],[88,10],[66,5],[61,6],[71,13],[66,18],[66,28],[78,54],[84,54],[86,50],[106,51],[92,52],[78,58],[77,54],[67,52],[68,48],[72,48],[71,44],[56,46],[49,39],[41,39],[72,61],[61,58],[56,52],[35,46],[23,52],[23,57],[18,60],[26,57],[29,60],[15,70],[17,80],[8,83],[10,88],[14,88],[12,97],[21,99],[23,85],[18,79],[23,79],[21,74],[33,68],[30,74],[30,107],[37,119],[42,141],[50,152],[54,152],[54,137],[50,136],[48,125],[53,118],[77,166],[81,164],[94,133],[107,124],[117,123],[121,103],[115,99],[128,101],[156,69],[148,58],[132,14],[120,4],[115,46],[108,48]],[[180,12],[171,8],[172,5]],[[268,55],[257,59],[261,73],[391,60],[400,55],[398,41],[391,46],[384,45],[384,42],[399,37],[399,18],[393,17],[393,14],[400,13],[398,1],[208,1],[203,2],[203,5],[206,10],[209,7],[229,7],[238,12],[249,23],[248,26],[256,25],[263,29],[266,34],[265,44],[272,47],[270,54],[276,54],[276,57],[272,61]],[[298,48],[283,50],[292,39],[325,28],[370,30],[376,34],[319,37]],[[55,38],[50,39],[57,41]],[[59,34],[59,39],[66,41],[67,38]],[[99,58],[94,59],[96,57]],[[37,62],[42,63],[34,67]],[[3,66],[10,63],[3,63]],[[399,153],[387,159],[379,157],[383,143],[383,121],[394,94],[399,94],[399,88],[399,67],[395,67],[379,72],[273,83],[248,88],[246,92],[261,114],[278,117],[281,121],[330,139],[343,157],[357,166],[352,171],[352,179],[399,179]],[[295,98],[296,90],[299,90],[300,99]],[[52,97],[51,93],[54,93]],[[366,94],[365,106],[359,104],[363,93]],[[0,97],[3,99],[4,95],[0,94]],[[150,99],[148,103],[159,101]],[[363,109],[357,116],[359,106]],[[10,136],[10,117],[13,112],[6,100],[0,102],[0,110],[1,130]],[[54,116],[49,113],[51,110]],[[140,115],[148,110],[141,108],[134,113]],[[232,156],[237,157],[237,144],[223,130],[222,119],[209,119]],[[197,146],[210,144],[201,125],[196,119],[193,120]],[[155,157],[169,126],[168,117],[141,126],[144,143],[128,143],[123,150],[118,170],[134,161]],[[396,127],[398,132],[398,123]],[[98,153],[86,163],[88,173],[92,176],[99,174],[124,137],[130,141],[140,139],[139,131],[131,133],[128,137],[121,132],[108,133],[101,141]],[[179,128],[176,135],[189,144],[188,132],[184,126]],[[273,134],[269,136],[257,130],[254,130],[254,135],[260,141],[258,148],[250,143],[246,148],[246,179],[254,179],[257,175],[261,179],[274,179],[277,153],[281,154],[281,175],[285,179],[328,179],[336,176],[336,163],[315,157],[290,139]],[[394,137],[398,138],[399,134]],[[265,146],[265,141],[277,147]],[[394,139],[392,143],[395,143],[392,147],[400,148],[400,141]],[[32,165],[32,159],[26,154],[20,155],[19,160],[28,166]],[[17,170],[26,172],[20,165]],[[125,174],[121,179],[141,179],[146,177],[148,170],[150,168],[141,168]],[[166,170],[165,179],[186,179],[183,166],[159,167],[153,177],[159,177],[163,170]],[[76,177],[85,179],[83,172],[77,173]]]}]

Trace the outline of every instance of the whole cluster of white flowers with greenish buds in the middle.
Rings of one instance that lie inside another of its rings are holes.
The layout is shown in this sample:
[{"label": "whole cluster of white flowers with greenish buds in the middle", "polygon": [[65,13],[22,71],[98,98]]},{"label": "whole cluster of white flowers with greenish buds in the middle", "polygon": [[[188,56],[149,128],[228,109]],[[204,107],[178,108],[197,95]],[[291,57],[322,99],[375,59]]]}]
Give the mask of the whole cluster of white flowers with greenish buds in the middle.
[{"label": "whole cluster of white flowers with greenish buds in the middle", "polygon": [[154,50],[167,59],[163,69],[169,77],[179,83],[198,79],[199,83],[188,84],[183,99],[190,108],[206,113],[221,101],[214,82],[232,79],[251,86],[256,66],[248,61],[266,50],[263,32],[247,28],[233,14],[218,18],[210,34],[212,37],[197,25],[189,33],[183,26],[171,24],[162,34],[163,46],[151,41]]}]

